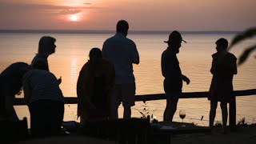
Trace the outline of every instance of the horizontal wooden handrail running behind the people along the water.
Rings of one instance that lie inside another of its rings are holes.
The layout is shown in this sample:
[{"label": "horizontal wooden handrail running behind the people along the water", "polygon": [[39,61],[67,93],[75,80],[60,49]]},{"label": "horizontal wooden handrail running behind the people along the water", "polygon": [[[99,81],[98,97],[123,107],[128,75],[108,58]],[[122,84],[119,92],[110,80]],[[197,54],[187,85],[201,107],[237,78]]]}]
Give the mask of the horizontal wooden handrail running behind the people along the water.
[{"label": "horizontal wooden handrail running behind the people along the water", "polygon": [[[235,96],[248,96],[256,94],[256,89],[250,90],[234,90]],[[186,92],[182,94],[181,98],[207,98],[208,92]],[[136,95],[135,101],[154,101],[154,100],[161,100],[166,99],[165,94],[143,94],[143,95]],[[78,98],[77,97],[65,97],[64,98],[65,104],[77,104]],[[14,105],[22,106],[26,105],[24,98],[15,98]]]}]

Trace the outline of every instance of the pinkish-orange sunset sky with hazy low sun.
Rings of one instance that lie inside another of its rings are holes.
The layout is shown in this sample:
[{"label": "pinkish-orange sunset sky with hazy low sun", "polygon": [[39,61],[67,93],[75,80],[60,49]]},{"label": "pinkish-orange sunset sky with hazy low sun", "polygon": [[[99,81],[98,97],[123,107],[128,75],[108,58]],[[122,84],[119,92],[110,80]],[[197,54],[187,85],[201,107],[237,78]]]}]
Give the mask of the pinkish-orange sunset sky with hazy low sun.
[{"label": "pinkish-orange sunset sky with hazy low sun", "polygon": [[245,30],[256,0],[0,0],[0,30]]}]

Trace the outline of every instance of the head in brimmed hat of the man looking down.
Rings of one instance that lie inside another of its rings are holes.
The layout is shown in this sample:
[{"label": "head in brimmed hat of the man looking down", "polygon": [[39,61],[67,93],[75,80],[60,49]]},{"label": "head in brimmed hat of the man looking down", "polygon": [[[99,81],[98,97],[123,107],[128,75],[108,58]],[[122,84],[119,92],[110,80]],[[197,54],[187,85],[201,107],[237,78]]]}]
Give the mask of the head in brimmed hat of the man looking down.
[{"label": "head in brimmed hat of the man looking down", "polygon": [[170,46],[172,49],[174,49],[174,51],[176,53],[179,52],[179,48],[182,46],[182,41],[185,42],[183,39],[182,39],[182,35],[174,30],[170,35],[169,35],[169,39],[168,41],[165,41],[166,43],[168,43],[168,46]]}]

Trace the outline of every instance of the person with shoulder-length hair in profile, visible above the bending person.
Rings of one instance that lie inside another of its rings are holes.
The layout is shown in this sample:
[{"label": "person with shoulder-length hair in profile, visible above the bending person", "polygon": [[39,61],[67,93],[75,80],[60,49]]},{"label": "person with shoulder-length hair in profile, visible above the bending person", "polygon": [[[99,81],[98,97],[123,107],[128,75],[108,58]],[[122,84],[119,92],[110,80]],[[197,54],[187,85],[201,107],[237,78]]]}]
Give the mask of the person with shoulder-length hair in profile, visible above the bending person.
[{"label": "person with shoulder-length hair in profile, visible above the bending person", "polygon": [[[38,43],[38,54],[36,54],[31,62],[31,66],[34,66],[35,62],[40,62],[40,65],[45,65],[44,70],[49,70],[48,65],[48,57],[50,54],[55,53],[56,45],[55,45],[56,39],[50,36],[43,36],[40,38]],[[62,82],[62,78],[58,79],[58,82]]]}]

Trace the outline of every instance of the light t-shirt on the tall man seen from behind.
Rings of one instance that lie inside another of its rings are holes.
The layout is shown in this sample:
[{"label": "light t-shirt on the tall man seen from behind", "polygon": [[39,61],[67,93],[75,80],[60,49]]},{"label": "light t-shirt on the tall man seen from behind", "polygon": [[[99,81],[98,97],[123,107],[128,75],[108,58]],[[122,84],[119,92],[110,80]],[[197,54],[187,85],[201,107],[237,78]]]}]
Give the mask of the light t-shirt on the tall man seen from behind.
[{"label": "light t-shirt on the tall man seen from behind", "polygon": [[102,47],[102,57],[114,64],[115,84],[133,83],[133,62],[139,62],[135,43],[125,35],[117,33],[106,39]]}]

